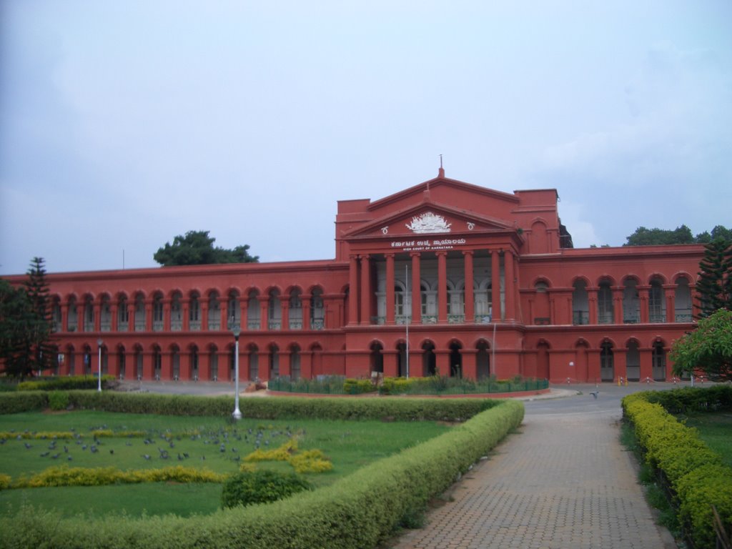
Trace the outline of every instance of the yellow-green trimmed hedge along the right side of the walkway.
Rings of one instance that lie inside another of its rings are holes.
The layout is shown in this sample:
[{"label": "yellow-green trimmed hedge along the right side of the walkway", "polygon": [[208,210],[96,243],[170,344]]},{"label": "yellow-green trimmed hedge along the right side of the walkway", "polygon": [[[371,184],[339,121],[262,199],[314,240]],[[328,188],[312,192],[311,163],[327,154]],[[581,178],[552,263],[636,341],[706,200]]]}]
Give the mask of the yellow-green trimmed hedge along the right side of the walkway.
[{"label": "yellow-green trimmed hedge along the right side of the walkway", "polygon": [[[702,392],[709,391],[709,395]],[[721,396],[720,396],[721,395]],[[660,404],[674,409],[712,409],[721,406],[725,388],[675,389],[664,392],[635,393],[622,401],[625,417],[635,428],[635,435],[650,466],[661,471],[676,494],[679,520],[696,549],[712,549],[715,534],[712,505],[727,528],[732,524],[732,468],[698,438],[696,431],[681,425]],[[699,407],[700,403],[706,403]]]}]

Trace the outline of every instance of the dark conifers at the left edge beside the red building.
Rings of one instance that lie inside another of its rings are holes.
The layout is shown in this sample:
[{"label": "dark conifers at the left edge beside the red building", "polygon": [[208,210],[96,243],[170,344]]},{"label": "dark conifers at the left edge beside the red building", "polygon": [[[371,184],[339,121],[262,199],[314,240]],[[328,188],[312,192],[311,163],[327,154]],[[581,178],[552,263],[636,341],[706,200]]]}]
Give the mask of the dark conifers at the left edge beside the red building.
[{"label": "dark conifers at the left edge beside the red building", "polygon": [[23,287],[0,280],[1,371],[21,379],[56,364],[43,263],[42,258],[33,258]]}]

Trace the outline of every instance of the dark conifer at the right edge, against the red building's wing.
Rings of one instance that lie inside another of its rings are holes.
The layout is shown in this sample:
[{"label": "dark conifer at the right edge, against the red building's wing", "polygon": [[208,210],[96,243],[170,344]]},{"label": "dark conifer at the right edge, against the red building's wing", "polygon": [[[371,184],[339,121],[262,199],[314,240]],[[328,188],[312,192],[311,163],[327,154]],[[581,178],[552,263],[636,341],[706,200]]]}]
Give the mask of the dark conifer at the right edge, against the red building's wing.
[{"label": "dark conifer at the right edge, against the red building's wing", "polygon": [[732,242],[717,238],[704,246],[696,283],[700,316],[719,309],[732,310]]}]

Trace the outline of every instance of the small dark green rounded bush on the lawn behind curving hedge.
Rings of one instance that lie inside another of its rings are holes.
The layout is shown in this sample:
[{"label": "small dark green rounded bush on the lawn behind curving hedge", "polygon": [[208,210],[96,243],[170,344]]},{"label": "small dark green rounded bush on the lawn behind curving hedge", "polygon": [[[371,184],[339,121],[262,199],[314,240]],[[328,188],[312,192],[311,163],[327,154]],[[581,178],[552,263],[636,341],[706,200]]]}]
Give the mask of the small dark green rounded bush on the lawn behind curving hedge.
[{"label": "small dark green rounded bush on the lawn behind curving hedge", "polygon": [[310,482],[292,473],[244,471],[224,482],[221,507],[269,503],[310,490]]}]

